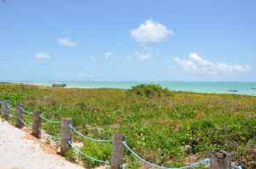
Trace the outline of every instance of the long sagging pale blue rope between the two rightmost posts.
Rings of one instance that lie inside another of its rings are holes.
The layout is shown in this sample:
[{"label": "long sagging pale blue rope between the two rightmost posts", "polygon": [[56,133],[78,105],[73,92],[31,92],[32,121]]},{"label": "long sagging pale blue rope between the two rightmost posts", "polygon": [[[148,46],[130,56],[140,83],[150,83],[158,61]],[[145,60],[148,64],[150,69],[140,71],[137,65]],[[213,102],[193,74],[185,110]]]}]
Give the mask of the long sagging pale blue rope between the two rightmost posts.
[{"label": "long sagging pale blue rope between the two rightmost posts", "polygon": [[191,163],[189,164],[188,166],[182,166],[182,167],[165,167],[165,166],[158,166],[154,163],[151,163],[149,161],[146,161],[144,160],[141,156],[137,155],[136,152],[134,152],[127,144],[125,141],[122,142],[123,145],[125,146],[126,149],[128,149],[132,155],[136,156],[138,160],[140,161],[143,161],[143,163],[145,164],[148,164],[150,166],[154,166],[154,167],[157,167],[157,168],[161,168],[161,169],[184,169],[184,168],[192,168],[192,167],[195,167],[195,166],[200,166],[201,164],[209,164],[211,161],[210,159],[204,159],[202,161],[198,161],[198,162],[195,162],[195,163]]}]

